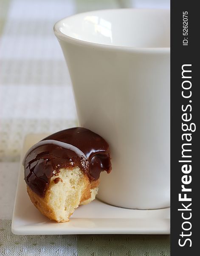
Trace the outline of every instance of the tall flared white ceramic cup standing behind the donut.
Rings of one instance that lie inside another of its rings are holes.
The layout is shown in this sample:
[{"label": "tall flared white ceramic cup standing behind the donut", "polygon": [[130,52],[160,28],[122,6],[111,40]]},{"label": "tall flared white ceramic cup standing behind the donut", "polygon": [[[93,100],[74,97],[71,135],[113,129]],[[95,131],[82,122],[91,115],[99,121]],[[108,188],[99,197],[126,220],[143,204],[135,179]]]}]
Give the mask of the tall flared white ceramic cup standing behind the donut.
[{"label": "tall flared white ceramic cup standing behind the donut", "polygon": [[54,32],[79,125],[110,144],[113,170],[101,173],[98,198],[131,209],[169,207],[169,10],[81,13],[57,22]]}]

